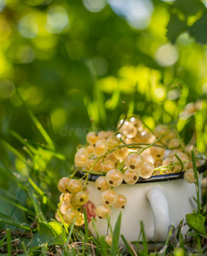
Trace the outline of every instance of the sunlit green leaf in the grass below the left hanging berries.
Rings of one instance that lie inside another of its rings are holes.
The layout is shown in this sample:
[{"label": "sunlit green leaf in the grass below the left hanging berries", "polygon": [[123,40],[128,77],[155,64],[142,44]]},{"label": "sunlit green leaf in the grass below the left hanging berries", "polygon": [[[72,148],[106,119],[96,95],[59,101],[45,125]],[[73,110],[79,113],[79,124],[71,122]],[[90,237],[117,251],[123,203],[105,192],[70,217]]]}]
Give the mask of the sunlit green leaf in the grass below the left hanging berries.
[{"label": "sunlit green leaf in the grass below the left hanging berries", "polygon": [[34,234],[30,247],[41,247],[53,244],[63,245],[66,242],[66,230],[58,222],[40,223]]}]

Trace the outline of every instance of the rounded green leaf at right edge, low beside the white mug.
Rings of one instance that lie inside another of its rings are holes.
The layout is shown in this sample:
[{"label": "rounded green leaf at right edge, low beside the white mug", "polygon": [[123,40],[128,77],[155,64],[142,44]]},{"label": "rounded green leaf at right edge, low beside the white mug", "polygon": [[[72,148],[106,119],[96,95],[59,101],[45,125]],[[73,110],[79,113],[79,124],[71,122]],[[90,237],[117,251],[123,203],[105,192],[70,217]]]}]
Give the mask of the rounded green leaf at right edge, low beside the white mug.
[{"label": "rounded green leaf at right edge, low beside the white mug", "polygon": [[190,228],[207,237],[207,233],[204,227],[204,216],[202,216],[200,213],[190,213],[187,214],[186,219]]}]

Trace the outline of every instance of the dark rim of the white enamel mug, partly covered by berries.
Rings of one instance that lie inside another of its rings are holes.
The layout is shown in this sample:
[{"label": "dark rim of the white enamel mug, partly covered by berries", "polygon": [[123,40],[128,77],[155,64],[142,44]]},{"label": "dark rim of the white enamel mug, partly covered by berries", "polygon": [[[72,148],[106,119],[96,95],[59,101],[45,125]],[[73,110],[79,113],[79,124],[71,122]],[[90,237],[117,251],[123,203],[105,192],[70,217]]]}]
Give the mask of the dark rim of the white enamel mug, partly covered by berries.
[{"label": "dark rim of the white enamel mug, partly covered by berries", "polygon": [[[207,160],[205,160],[204,163],[201,166],[198,166],[197,170],[198,170],[199,173],[205,172],[207,170]],[[168,174],[155,175],[155,176],[152,176],[152,177],[149,177],[149,178],[140,177],[135,184],[137,184],[137,183],[156,183],[156,182],[164,182],[164,181],[181,179],[181,178],[184,177],[184,173],[185,173],[185,171],[184,172],[177,172],[177,173],[168,173]],[[85,172],[78,171],[78,175],[80,177],[83,177],[83,175],[85,175]],[[101,177],[101,176],[103,176],[103,175],[93,175],[93,174],[89,173],[88,180],[92,181],[92,182],[95,182],[95,180],[98,177]],[[125,182],[123,181],[123,184],[124,183]]]}]

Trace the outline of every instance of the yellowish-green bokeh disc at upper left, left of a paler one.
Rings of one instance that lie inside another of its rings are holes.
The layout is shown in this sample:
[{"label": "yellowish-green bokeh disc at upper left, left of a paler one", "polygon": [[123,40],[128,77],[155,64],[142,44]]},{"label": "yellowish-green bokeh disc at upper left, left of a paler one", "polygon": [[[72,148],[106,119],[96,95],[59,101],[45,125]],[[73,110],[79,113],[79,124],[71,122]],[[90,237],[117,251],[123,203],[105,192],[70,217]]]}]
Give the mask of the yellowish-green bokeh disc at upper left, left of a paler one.
[{"label": "yellowish-green bokeh disc at upper left, left of a paler one", "polygon": [[36,38],[38,33],[37,20],[33,15],[26,15],[20,19],[18,29],[23,38]]}]

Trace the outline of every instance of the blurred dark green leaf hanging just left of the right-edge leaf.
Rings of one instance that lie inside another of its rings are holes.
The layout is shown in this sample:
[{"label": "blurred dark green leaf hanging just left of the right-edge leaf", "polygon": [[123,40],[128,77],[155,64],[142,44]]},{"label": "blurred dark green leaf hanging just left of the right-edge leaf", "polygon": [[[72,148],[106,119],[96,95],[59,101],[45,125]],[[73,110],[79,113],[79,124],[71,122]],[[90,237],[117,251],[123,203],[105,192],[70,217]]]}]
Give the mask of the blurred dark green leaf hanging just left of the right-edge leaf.
[{"label": "blurred dark green leaf hanging just left of the right-edge leaf", "polygon": [[170,14],[170,21],[167,26],[167,38],[170,39],[172,44],[175,44],[176,38],[187,30],[187,22],[185,20],[180,20],[177,15]]}]

